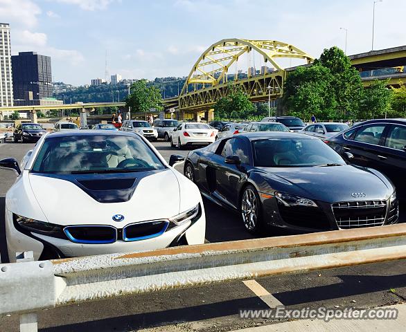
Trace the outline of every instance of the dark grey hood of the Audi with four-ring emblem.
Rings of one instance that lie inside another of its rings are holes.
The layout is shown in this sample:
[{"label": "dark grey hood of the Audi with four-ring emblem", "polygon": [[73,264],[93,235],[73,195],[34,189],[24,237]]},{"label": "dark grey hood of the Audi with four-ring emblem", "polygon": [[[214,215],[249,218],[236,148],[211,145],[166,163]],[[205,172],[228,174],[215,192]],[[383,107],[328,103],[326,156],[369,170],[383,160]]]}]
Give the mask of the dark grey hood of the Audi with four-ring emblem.
[{"label": "dark grey hood of the Audi with four-ring emblem", "polygon": [[393,187],[382,174],[373,172],[352,165],[274,167],[270,172],[273,175],[270,184],[276,190],[327,203],[389,199]]}]

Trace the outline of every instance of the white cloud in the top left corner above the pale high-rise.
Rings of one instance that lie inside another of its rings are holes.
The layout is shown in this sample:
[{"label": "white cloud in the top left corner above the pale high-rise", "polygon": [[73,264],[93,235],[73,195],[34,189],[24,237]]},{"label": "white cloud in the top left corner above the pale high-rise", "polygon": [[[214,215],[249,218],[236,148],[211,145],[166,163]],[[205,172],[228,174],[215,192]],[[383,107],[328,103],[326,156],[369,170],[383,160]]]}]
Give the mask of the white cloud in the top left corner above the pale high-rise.
[{"label": "white cloud in the top left corner above the pale high-rise", "polygon": [[0,17],[12,24],[33,27],[41,9],[31,0],[0,0]]}]

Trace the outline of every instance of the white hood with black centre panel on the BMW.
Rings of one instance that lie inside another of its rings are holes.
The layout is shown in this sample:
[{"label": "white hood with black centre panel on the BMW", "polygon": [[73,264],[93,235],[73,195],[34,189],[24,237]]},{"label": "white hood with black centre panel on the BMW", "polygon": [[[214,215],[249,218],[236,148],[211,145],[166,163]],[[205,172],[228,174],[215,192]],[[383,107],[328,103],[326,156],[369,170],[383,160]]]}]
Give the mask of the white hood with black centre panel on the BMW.
[{"label": "white hood with black centre panel on the BMW", "polygon": [[[50,223],[126,225],[179,214],[179,182],[172,169],[126,174],[29,174]],[[114,221],[121,214],[123,221]]]}]

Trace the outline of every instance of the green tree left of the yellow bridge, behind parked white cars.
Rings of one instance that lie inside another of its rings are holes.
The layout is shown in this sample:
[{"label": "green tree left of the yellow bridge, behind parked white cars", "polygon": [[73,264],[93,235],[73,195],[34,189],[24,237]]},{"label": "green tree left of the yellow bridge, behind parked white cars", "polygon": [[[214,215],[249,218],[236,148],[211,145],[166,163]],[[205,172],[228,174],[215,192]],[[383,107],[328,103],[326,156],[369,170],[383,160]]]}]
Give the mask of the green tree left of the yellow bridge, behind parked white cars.
[{"label": "green tree left of the yellow bridge, behind parked white cars", "polygon": [[161,91],[156,86],[148,86],[147,80],[139,80],[132,84],[131,94],[125,100],[125,106],[132,111],[148,113],[150,109],[164,109]]}]

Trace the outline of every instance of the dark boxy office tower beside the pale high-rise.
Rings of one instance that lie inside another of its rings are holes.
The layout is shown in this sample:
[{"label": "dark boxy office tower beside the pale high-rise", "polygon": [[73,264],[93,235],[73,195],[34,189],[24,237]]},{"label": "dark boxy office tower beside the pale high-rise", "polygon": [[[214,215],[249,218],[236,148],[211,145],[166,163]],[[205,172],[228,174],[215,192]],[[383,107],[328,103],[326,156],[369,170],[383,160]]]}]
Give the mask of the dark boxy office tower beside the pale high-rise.
[{"label": "dark boxy office tower beside the pale high-rise", "polygon": [[12,55],[14,100],[18,104],[40,104],[53,94],[51,57],[35,52]]}]

